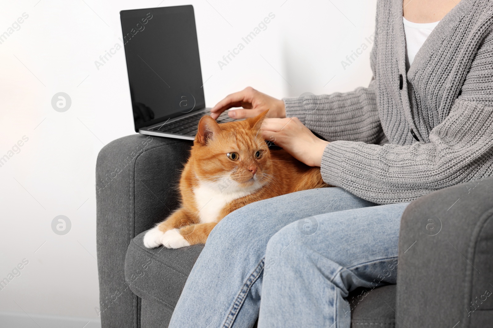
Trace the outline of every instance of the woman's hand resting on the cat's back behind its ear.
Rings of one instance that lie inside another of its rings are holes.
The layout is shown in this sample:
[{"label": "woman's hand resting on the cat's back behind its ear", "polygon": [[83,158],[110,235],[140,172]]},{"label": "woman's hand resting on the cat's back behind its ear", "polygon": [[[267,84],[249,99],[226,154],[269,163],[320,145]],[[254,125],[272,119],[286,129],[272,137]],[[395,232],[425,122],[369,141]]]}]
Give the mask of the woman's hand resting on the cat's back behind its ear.
[{"label": "woman's hand resting on the cat's back behind its ear", "polygon": [[317,138],[298,118],[265,119],[262,135],[309,166],[320,166],[328,141]]}]

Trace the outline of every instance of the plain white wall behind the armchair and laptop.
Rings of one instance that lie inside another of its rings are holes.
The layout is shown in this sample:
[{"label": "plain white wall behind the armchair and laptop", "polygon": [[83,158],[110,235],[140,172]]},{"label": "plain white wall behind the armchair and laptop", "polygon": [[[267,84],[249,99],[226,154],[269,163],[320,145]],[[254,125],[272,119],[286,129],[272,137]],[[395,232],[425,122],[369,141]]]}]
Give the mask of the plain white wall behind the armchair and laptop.
[{"label": "plain white wall behind the armchair and laptop", "polygon": [[[2,0],[0,33],[29,17],[0,44],[0,157],[29,140],[0,167],[0,279],[29,264],[0,291],[0,311],[98,319],[96,156],[135,132],[124,51],[99,70],[94,61],[120,42],[120,10],[189,3],[208,106],[246,86],[297,97],[371,79],[369,49],[346,69],[341,60],[369,45],[376,0]],[[217,61],[271,12],[268,29],[221,70]],[[72,102],[63,113],[51,106],[60,91]],[[51,229],[57,215],[70,218],[65,236]]]}]

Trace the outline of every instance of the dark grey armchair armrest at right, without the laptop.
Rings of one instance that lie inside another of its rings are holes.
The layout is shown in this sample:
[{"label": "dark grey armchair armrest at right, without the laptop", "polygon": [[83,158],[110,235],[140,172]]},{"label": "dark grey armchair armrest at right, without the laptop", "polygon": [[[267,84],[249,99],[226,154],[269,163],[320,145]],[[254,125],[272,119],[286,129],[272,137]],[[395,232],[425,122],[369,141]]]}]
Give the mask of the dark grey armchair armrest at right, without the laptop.
[{"label": "dark grey armchair armrest at right, without the laptop", "polygon": [[404,211],[396,327],[490,327],[493,177],[435,191]]}]

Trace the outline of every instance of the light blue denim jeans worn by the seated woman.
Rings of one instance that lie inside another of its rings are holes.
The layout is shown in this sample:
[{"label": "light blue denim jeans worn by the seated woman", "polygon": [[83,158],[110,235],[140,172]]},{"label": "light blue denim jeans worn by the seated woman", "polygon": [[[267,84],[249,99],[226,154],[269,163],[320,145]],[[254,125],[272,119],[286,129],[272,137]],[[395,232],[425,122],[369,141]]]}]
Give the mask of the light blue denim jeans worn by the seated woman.
[{"label": "light blue denim jeans worn by the seated woman", "polygon": [[219,222],[169,328],[350,327],[344,299],[395,284],[400,217],[341,188],[249,204]]}]

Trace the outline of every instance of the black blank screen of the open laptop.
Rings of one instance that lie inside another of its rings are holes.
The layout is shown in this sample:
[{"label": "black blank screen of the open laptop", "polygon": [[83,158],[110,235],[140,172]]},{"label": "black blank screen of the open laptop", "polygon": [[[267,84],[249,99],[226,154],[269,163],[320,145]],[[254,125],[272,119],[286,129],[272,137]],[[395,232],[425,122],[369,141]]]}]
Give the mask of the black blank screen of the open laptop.
[{"label": "black blank screen of the open laptop", "polygon": [[192,5],[120,12],[135,130],[205,107]]}]

